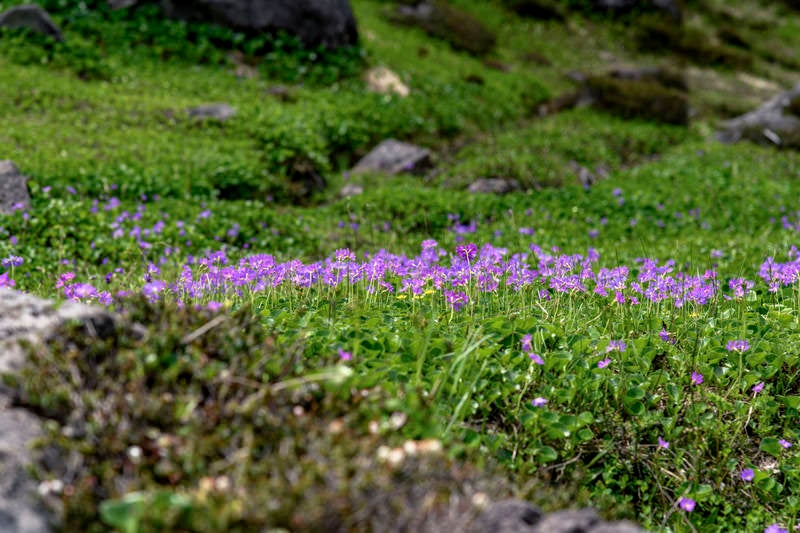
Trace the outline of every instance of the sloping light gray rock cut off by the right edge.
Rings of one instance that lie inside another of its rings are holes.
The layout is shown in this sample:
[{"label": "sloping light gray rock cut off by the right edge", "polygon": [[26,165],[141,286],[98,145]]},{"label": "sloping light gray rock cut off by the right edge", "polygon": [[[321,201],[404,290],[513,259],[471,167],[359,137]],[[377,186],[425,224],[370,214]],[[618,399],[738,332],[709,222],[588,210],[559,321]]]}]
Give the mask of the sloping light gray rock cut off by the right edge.
[{"label": "sloping light gray rock cut off by the right edge", "polygon": [[800,83],[758,109],[724,122],[717,139],[800,149]]}]

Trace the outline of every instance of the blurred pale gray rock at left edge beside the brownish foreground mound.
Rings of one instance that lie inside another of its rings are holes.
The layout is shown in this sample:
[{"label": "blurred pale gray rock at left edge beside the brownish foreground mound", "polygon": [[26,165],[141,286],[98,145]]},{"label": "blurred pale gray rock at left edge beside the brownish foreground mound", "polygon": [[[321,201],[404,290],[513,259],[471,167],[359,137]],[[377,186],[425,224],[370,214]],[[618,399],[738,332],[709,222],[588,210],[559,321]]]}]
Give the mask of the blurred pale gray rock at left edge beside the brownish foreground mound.
[{"label": "blurred pale gray rock at left edge beside the brownish foreground mound", "polygon": [[[115,331],[105,310],[69,302],[55,308],[51,302],[0,288],[0,375],[14,374],[25,363],[20,341],[36,345],[52,338],[56,329],[77,320],[87,335],[107,337]],[[37,484],[27,465],[38,457],[31,443],[42,435],[38,417],[15,407],[19,392],[0,384],[0,531],[39,533],[51,531],[56,514],[37,495]]]}]

